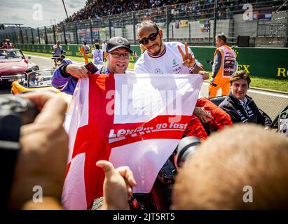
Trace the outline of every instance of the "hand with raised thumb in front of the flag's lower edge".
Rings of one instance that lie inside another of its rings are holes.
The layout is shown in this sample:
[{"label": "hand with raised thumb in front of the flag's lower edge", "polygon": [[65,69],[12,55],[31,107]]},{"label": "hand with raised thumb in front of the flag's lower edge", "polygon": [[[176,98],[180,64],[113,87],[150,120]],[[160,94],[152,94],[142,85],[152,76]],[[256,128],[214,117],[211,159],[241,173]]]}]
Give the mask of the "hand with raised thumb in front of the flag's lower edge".
[{"label": "hand with raised thumb in front of the flag's lower edge", "polygon": [[129,167],[118,167],[114,169],[111,162],[100,160],[96,163],[105,172],[103,184],[104,204],[102,209],[107,210],[129,210],[128,200],[132,196],[132,188],[136,181]]}]

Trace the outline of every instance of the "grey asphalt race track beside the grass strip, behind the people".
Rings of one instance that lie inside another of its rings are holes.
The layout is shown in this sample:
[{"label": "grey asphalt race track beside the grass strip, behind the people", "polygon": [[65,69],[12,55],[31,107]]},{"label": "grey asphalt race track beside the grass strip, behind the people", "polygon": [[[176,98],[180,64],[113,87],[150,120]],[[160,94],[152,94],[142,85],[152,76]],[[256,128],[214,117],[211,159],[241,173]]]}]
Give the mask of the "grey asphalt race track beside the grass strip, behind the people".
[{"label": "grey asphalt race track beside the grass strip, behind the people", "polygon": [[[31,56],[30,61],[38,64],[40,69],[52,69],[54,62],[49,57],[42,57],[36,55],[25,55],[25,57]],[[81,62],[74,62],[76,64],[84,64]],[[0,94],[10,94],[11,85],[0,84]],[[203,83],[201,88],[201,94],[203,97],[208,96],[208,83]],[[221,91],[218,91],[221,94]],[[265,111],[270,118],[275,118],[277,114],[288,104],[288,93],[283,94],[279,92],[270,92],[267,90],[259,90],[251,88],[247,93],[254,99],[257,106]]]}]

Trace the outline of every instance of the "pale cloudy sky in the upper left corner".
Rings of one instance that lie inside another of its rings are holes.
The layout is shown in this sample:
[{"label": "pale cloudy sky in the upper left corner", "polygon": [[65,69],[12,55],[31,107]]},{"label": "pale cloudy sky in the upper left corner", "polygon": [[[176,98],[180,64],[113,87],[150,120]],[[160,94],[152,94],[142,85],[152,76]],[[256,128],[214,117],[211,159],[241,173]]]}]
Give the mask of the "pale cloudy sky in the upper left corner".
[{"label": "pale cloudy sky in the upper left corner", "polygon": [[[64,3],[68,16],[85,6],[85,0],[64,0]],[[34,28],[50,26],[66,18],[62,0],[1,0],[0,11],[1,23],[22,23]]]}]

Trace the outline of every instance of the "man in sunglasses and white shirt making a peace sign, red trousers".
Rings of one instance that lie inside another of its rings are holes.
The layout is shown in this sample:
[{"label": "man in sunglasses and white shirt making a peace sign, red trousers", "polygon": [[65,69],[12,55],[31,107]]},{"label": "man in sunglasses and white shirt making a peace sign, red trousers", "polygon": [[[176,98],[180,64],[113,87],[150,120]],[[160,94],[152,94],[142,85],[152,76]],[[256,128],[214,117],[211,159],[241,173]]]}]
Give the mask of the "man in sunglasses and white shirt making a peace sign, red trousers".
[{"label": "man in sunglasses and white shirt making a peace sign, red trousers", "polygon": [[[135,64],[135,73],[195,73],[209,78],[203,66],[194,57],[187,43],[163,43],[163,31],[153,21],[142,22],[137,35],[145,52]],[[202,124],[207,123],[210,130],[220,130],[232,125],[230,116],[205,97],[199,97],[191,121],[185,131],[187,136],[206,139],[208,134]]]}]

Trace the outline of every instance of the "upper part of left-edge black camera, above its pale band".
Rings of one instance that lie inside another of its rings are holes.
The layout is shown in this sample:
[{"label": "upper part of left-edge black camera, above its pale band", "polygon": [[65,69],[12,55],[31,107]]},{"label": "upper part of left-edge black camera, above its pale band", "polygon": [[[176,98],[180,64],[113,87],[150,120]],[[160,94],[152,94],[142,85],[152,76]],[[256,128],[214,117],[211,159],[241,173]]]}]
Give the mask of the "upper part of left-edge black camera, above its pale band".
[{"label": "upper part of left-edge black camera, above its pale band", "polygon": [[36,105],[20,96],[0,97],[0,140],[18,141],[20,126],[32,123],[39,113]]}]

